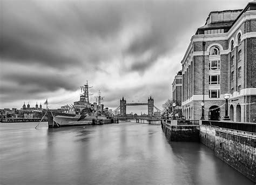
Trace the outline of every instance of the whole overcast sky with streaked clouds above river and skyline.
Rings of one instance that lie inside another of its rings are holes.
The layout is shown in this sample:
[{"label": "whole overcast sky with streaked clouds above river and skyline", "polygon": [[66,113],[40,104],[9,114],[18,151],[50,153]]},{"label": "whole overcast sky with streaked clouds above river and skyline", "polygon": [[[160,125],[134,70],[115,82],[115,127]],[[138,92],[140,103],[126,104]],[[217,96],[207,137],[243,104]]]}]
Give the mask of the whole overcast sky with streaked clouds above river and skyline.
[{"label": "whole overcast sky with streaked clouds above river and skyline", "polygon": [[[172,98],[192,35],[211,11],[250,1],[0,1],[0,108],[60,108],[88,81],[105,107]],[[45,108],[45,105],[43,105]],[[156,110],[155,110],[156,111]],[[146,106],[127,113],[147,113]]]}]

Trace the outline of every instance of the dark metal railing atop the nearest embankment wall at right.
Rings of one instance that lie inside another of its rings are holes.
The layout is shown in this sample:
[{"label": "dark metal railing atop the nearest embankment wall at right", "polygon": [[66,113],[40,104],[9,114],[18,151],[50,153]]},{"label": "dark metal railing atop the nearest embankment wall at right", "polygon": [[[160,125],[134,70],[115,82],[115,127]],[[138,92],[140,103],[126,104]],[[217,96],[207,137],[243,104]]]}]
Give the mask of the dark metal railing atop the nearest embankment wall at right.
[{"label": "dark metal railing atop the nearest embankment wall at right", "polygon": [[256,133],[256,124],[250,122],[230,122],[230,121],[206,121],[202,120],[202,125],[217,126],[238,131]]}]

